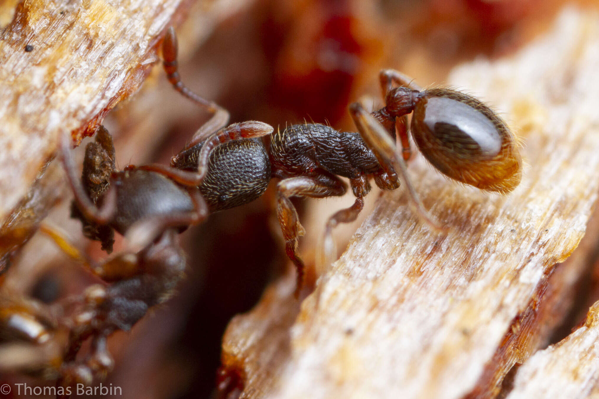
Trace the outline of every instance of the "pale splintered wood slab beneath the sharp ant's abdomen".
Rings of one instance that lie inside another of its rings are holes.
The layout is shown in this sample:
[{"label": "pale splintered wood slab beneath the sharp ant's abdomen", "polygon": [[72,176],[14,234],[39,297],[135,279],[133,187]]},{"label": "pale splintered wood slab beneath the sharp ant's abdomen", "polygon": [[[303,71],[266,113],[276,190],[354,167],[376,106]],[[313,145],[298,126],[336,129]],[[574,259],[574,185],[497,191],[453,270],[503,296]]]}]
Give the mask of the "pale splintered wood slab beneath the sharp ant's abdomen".
[{"label": "pale splintered wood slab beneath the sharp ant's abdomen", "polygon": [[586,266],[584,255],[559,263],[599,189],[597,48],[599,15],[567,9],[512,57],[453,71],[450,85],[490,102],[524,140],[521,185],[483,193],[417,157],[412,179],[450,232],[432,234],[400,193],[385,194],[301,309],[287,276],[231,321],[222,360],[243,377],[241,397],[497,396],[565,316]]}]

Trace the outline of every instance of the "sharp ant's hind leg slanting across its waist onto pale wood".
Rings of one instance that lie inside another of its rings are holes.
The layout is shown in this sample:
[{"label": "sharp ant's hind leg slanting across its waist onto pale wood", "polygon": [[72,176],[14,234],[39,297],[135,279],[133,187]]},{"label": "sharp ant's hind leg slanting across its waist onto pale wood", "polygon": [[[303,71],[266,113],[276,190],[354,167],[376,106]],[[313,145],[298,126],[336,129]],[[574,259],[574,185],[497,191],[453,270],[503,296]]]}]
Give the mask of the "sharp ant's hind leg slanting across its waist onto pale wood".
[{"label": "sharp ant's hind leg slanting across its waist onto pale wood", "polygon": [[[424,205],[422,205],[422,201],[416,193],[416,188],[412,184],[412,180],[410,179],[407,171],[406,162],[403,157],[398,156],[397,147],[395,147],[395,143],[389,137],[389,134],[386,132],[385,128],[381,126],[381,124],[370,115],[364,107],[360,103],[353,103],[349,108],[350,114],[352,114],[352,118],[356,123],[356,127],[358,127],[358,131],[360,135],[368,145],[374,155],[379,160],[387,161],[391,160],[394,166],[400,170],[400,174],[404,184],[406,184],[407,191],[410,198],[410,204],[412,204],[413,210],[416,212],[416,215],[428,224],[433,230],[436,232],[446,232],[446,228],[441,227],[426,211]],[[383,164],[382,164],[383,165]]]}]

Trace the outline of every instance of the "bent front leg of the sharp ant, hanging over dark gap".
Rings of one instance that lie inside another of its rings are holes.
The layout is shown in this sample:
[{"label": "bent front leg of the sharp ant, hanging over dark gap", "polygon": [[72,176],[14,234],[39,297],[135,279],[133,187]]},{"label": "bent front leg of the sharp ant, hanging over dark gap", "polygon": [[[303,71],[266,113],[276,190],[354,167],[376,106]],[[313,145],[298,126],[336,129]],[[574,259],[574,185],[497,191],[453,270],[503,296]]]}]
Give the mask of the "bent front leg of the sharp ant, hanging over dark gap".
[{"label": "bent front leg of the sharp ant, hanging over dark gap", "polygon": [[277,184],[277,218],[285,239],[285,252],[295,264],[297,270],[297,285],[295,297],[299,297],[304,282],[304,262],[298,254],[298,237],[305,233],[299,223],[295,206],[289,200],[291,197],[324,198],[342,196],[346,187],[342,181],[328,173],[315,177],[298,176],[283,179]]}]

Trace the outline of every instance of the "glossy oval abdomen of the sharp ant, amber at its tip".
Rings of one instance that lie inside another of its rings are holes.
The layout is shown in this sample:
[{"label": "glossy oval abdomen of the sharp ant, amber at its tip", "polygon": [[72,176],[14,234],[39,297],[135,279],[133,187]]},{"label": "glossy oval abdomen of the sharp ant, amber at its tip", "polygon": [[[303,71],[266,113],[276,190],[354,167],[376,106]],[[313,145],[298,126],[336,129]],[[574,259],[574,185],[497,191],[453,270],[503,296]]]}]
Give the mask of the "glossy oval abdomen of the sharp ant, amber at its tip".
[{"label": "glossy oval abdomen of the sharp ant, amber at its tip", "polygon": [[515,136],[472,96],[450,89],[423,90],[415,100],[411,127],[422,155],[452,179],[507,193],[522,178]]}]

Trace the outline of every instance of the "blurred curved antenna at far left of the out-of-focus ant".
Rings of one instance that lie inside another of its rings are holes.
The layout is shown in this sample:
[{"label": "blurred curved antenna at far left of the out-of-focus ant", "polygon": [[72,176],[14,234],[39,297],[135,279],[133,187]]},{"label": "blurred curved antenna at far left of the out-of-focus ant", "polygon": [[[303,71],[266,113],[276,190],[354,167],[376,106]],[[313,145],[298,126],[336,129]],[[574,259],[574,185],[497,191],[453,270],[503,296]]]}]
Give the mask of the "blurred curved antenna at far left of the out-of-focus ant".
[{"label": "blurred curved antenna at far left of the out-of-focus ant", "polygon": [[60,138],[60,152],[62,154],[62,165],[65,169],[66,179],[71,186],[75,197],[75,203],[83,216],[92,223],[99,225],[107,224],[116,211],[116,191],[109,187],[104,196],[104,203],[100,209],[96,208],[92,200],[89,199],[80,179],[77,178],[75,160],[72,156],[72,138],[71,133],[64,132]]}]

